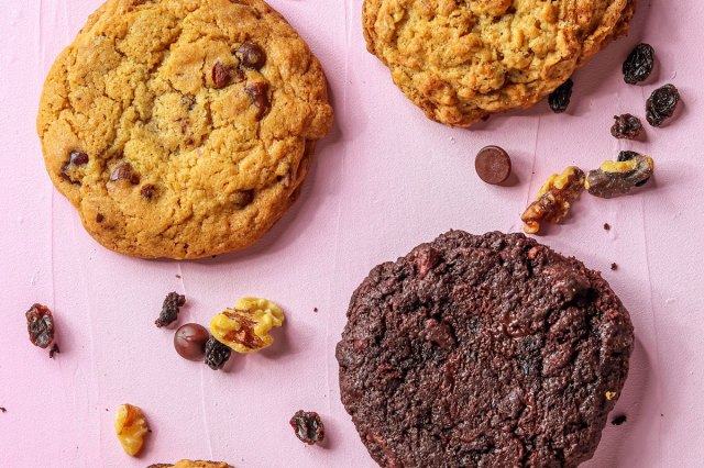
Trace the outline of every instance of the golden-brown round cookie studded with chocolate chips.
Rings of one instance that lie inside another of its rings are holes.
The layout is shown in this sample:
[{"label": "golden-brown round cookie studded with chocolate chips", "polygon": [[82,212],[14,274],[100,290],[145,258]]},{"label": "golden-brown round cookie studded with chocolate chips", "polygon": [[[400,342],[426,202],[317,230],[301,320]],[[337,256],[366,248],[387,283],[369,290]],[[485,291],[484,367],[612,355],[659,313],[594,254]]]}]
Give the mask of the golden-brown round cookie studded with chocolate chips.
[{"label": "golden-brown round cookie studded with chocolate chips", "polygon": [[56,59],[37,118],[86,230],[147,258],[251,245],[331,124],[320,64],[261,0],[108,0]]}]

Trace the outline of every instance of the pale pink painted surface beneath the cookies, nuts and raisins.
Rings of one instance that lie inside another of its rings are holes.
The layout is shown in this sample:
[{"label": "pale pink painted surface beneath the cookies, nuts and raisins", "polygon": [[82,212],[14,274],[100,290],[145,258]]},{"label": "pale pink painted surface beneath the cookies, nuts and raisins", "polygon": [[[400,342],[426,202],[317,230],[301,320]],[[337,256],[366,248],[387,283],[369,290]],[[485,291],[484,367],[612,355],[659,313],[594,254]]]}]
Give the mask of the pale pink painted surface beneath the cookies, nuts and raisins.
[{"label": "pale pink painted surface beneath the cookies, nuts and raisins", "polygon": [[[629,37],[576,73],[566,114],[543,102],[466,131],[426,120],[365,52],[362,0],[272,0],[320,57],[336,126],[319,144],[300,201],[257,245],[182,263],[106,250],[44,171],[34,131],[43,79],[99,3],[0,0],[0,466],[144,467],[185,457],[238,467],[374,466],[340,403],[334,360],[355,286],[374,265],[451,227],[519,231],[549,174],[593,168],[624,148],[656,159],[647,189],[610,201],[585,196],[569,223],[541,237],[604,271],[638,337],[616,406],[628,421],[607,426],[585,466],[702,466],[704,2],[641,0]],[[627,86],[620,64],[640,41],[654,46],[658,68],[645,86]],[[609,135],[612,115],[644,116],[650,91],[669,81],[684,101],[675,121],[648,126],[641,143]],[[477,179],[474,155],[487,144],[512,154],[513,187]],[[248,294],[278,301],[288,320],[273,347],[215,372],[179,358],[173,331],[154,327],[172,290],[188,298],[182,323],[207,324]],[[57,317],[54,360],[26,337],[24,311],[35,301]],[[140,405],[153,430],[135,459],[113,434],[124,402]],[[326,447],[294,437],[288,419],[298,409],[322,415]]]}]

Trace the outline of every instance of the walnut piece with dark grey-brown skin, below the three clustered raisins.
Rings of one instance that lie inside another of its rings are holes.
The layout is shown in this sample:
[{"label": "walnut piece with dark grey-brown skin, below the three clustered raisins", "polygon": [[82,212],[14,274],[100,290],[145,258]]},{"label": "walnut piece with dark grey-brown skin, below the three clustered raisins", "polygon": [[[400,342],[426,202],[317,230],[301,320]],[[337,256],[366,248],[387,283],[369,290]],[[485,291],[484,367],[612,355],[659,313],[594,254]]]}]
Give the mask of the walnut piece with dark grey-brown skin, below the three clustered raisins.
[{"label": "walnut piece with dark grey-brown skin, below the three clustered raisins", "polygon": [[653,170],[654,163],[650,156],[635,155],[628,160],[607,160],[598,169],[587,172],[584,188],[595,197],[618,197],[642,186]]}]

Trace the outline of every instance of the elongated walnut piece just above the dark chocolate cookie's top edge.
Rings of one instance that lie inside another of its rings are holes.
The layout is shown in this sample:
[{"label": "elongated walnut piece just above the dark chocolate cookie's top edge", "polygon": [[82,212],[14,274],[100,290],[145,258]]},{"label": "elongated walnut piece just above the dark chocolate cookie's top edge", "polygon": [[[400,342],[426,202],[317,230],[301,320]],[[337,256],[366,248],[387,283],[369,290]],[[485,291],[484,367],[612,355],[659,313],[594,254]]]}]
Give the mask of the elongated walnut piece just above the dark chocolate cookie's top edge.
[{"label": "elongated walnut piece just above the dark chocolate cookie's top edge", "polygon": [[570,166],[562,174],[553,174],[538,192],[536,201],[530,203],[520,216],[526,234],[536,234],[540,231],[540,222],[562,222],[568,214],[572,202],[580,198],[584,189],[584,171],[575,166]]}]

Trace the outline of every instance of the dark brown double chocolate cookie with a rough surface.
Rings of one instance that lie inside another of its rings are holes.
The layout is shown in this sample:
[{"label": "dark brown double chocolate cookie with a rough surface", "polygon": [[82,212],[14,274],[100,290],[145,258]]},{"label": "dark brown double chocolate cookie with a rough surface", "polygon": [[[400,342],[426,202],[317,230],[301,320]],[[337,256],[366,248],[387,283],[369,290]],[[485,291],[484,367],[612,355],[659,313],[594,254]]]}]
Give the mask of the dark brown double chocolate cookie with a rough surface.
[{"label": "dark brown double chocolate cookie with a rough surface", "polygon": [[575,467],[632,347],[598,272],[522,234],[451,231],[371,271],[337,358],[380,466]]}]

